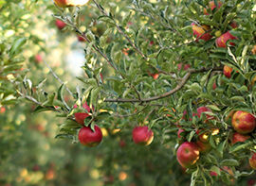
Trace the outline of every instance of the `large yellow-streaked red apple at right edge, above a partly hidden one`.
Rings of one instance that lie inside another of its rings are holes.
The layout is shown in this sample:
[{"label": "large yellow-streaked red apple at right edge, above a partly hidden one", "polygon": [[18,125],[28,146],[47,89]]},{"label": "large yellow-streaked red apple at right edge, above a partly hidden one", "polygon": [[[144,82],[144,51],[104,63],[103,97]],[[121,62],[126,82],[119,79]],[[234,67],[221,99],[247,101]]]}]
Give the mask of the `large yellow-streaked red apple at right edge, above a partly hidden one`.
[{"label": "large yellow-streaked red apple at right edge, above a partly hidden one", "polygon": [[232,126],[237,132],[247,134],[252,132],[256,127],[256,120],[251,113],[238,110],[233,114]]}]

